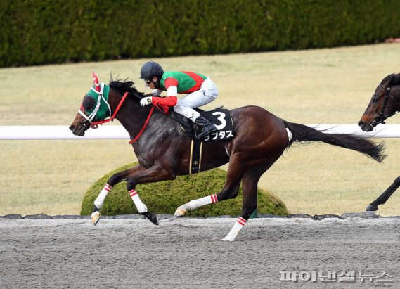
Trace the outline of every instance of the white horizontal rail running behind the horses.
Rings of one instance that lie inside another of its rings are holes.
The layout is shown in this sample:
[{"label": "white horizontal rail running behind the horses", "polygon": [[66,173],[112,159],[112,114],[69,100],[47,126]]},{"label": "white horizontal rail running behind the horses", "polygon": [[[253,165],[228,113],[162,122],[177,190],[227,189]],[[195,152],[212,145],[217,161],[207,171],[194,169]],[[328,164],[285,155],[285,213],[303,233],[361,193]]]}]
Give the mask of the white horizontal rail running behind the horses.
[{"label": "white horizontal rail running behind the horses", "polygon": [[[356,134],[370,138],[398,138],[400,124],[379,124],[371,132],[361,131],[356,124],[307,124],[325,133]],[[74,136],[67,126],[0,126],[0,139],[129,139],[121,125],[105,125],[88,129],[84,136]]]}]

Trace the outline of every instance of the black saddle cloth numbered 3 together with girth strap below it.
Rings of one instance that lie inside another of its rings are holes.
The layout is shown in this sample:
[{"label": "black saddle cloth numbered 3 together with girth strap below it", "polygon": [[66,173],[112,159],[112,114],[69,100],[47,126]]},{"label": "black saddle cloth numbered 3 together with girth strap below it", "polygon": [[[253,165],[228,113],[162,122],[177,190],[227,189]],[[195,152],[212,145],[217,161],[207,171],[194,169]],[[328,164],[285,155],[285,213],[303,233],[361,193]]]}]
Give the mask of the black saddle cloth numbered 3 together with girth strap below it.
[{"label": "black saddle cloth numbered 3 together with girth strap below it", "polygon": [[204,139],[197,140],[195,139],[196,128],[195,124],[188,120],[183,115],[179,113],[175,113],[173,110],[170,110],[169,116],[171,116],[174,120],[181,124],[181,127],[186,134],[188,134],[191,141],[191,160],[189,165],[189,174],[195,174],[200,172],[201,169],[201,158],[202,158],[202,143],[203,141],[226,141],[228,139],[232,139],[235,136],[235,129],[233,127],[233,120],[231,117],[231,113],[229,110],[226,110],[222,107],[216,108],[214,110],[200,110],[199,108],[195,108],[196,111],[200,113],[207,120],[212,122],[215,127],[217,127],[217,131],[205,136]]}]

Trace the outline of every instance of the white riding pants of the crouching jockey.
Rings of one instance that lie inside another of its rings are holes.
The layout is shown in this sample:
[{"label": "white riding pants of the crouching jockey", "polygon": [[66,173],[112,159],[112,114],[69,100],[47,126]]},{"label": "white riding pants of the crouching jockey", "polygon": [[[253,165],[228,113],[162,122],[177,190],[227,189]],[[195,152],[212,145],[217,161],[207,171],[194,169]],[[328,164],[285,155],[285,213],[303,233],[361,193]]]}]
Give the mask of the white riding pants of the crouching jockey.
[{"label": "white riding pants of the crouching jockey", "polygon": [[193,108],[206,105],[207,103],[214,101],[217,96],[217,86],[209,77],[207,77],[198,91],[193,91],[191,94],[179,99],[178,103],[174,106],[174,110],[176,113],[180,113],[181,115],[190,118],[192,122],[195,122],[196,118],[200,116],[200,113],[193,110]]}]

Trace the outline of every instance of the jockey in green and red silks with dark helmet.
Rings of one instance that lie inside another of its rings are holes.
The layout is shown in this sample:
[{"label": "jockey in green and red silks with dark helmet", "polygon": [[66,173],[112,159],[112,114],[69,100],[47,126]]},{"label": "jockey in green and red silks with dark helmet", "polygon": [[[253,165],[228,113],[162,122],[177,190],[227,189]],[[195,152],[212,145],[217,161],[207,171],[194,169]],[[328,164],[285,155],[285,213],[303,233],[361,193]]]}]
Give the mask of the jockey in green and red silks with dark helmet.
[{"label": "jockey in green and red silks with dark helmet", "polygon": [[[160,64],[149,61],[142,66],[140,78],[145,80],[150,89],[153,89],[151,92],[153,96],[141,99],[142,106],[151,103],[173,106],[176,113],[187,117],[197,127],[202,127],[196,139],[217,131],[217,127],[212,122],[193,110],[214,101],[218,96],[217,86],[209,77],[195,72],[164,72]],[[157,97],[162,91],[167,91],[167,97]],[[186,94],[186,96],[178,100],[176,94]]]}]

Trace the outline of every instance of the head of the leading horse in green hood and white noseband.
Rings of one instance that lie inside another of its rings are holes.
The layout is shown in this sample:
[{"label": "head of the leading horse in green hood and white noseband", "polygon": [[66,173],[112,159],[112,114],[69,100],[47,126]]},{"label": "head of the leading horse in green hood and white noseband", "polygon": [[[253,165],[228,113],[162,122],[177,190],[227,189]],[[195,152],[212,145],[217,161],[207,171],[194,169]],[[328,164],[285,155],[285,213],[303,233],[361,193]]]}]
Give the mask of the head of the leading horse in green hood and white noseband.
[{"label": "head of the leading horse in green hood and white noseband", "polygon": [[98,78],[93,72],[93,86],[84,96],[75,120],[70,125],[70,130],[76,136],[84,136],[90,127],[96,127],[98,121],[111,116],[111,108],[108,103],[110,87],[98,83]]}]

